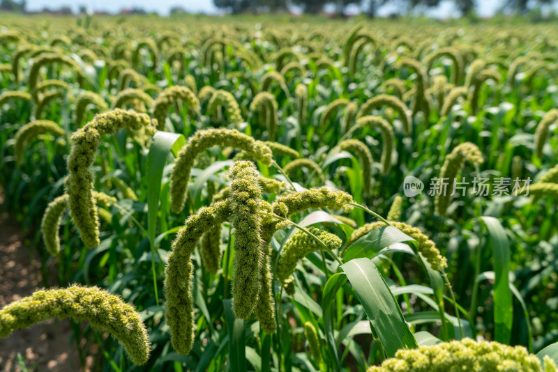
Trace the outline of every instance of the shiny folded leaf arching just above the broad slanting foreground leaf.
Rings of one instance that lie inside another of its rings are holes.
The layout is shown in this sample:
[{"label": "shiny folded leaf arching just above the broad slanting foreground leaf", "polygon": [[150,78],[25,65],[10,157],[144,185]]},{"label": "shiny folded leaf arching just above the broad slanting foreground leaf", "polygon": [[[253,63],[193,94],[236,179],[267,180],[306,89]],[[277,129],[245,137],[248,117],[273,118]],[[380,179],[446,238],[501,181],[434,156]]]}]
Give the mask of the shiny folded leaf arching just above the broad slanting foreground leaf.
[{"label": "shiny folded leaf arching just above the broad slanting foreground leaf", "polygon": [[348,262],[354,258],[372,258],[381,249],[400,242],[413,242],[414,239],[409,235],[402,233],[393,226],[382,226],[375,228],[370,233],[364,235],[359,240],[356,240],[350,245],[345,254],[343,261]]}]

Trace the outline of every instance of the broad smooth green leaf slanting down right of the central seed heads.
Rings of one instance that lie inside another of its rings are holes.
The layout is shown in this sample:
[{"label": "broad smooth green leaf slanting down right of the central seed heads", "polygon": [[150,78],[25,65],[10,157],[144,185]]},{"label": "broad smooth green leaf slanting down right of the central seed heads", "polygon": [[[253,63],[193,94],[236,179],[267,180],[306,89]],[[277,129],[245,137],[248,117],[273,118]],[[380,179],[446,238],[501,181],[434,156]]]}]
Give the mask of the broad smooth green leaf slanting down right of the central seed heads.
[{"label": "broad smooth green leaf slanting down right of the central seed heads", "polygon": [[357,258],[341,266],[372,322],[388,357],[399,349],[416,348],[395,297],[386,281],[368,258]]}]

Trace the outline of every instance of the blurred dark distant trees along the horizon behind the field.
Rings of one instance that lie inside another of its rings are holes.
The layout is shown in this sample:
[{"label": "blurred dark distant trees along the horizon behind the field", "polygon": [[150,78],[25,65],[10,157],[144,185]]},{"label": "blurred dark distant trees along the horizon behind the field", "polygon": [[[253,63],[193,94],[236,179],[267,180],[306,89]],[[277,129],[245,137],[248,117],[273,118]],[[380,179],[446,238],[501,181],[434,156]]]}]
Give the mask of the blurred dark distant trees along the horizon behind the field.
[{"label": "blurred dark distant trees along the horizon behind the field", "polygon": [[[1,0],[12,1],[12,0]],[[525,14],[530,6],[541,6],[543,4],[557,3],[558,0],[499,0],[502,7],[501,10],[515,10],[519,14]],[[342,13],[346,6],[354,4],[361,6],[363,12],[370,17],[375,17],[380,7],[384,5],[393,5],[398,10],[425,10],[426,8],[435,8],[442,3],[442,0],[213,0],[218,8],[226,10],[229,13],[243,13],[248,11],[264,11],[271,12],[287,10],[287,3],[300,6],[305,13],[320,13],[324,10],[324,6],[331,4],[335,6],[337,13]],[[453,0],[455,8],[461,15],[469,15],[474,13],[478,4],[477,0]]]}]

